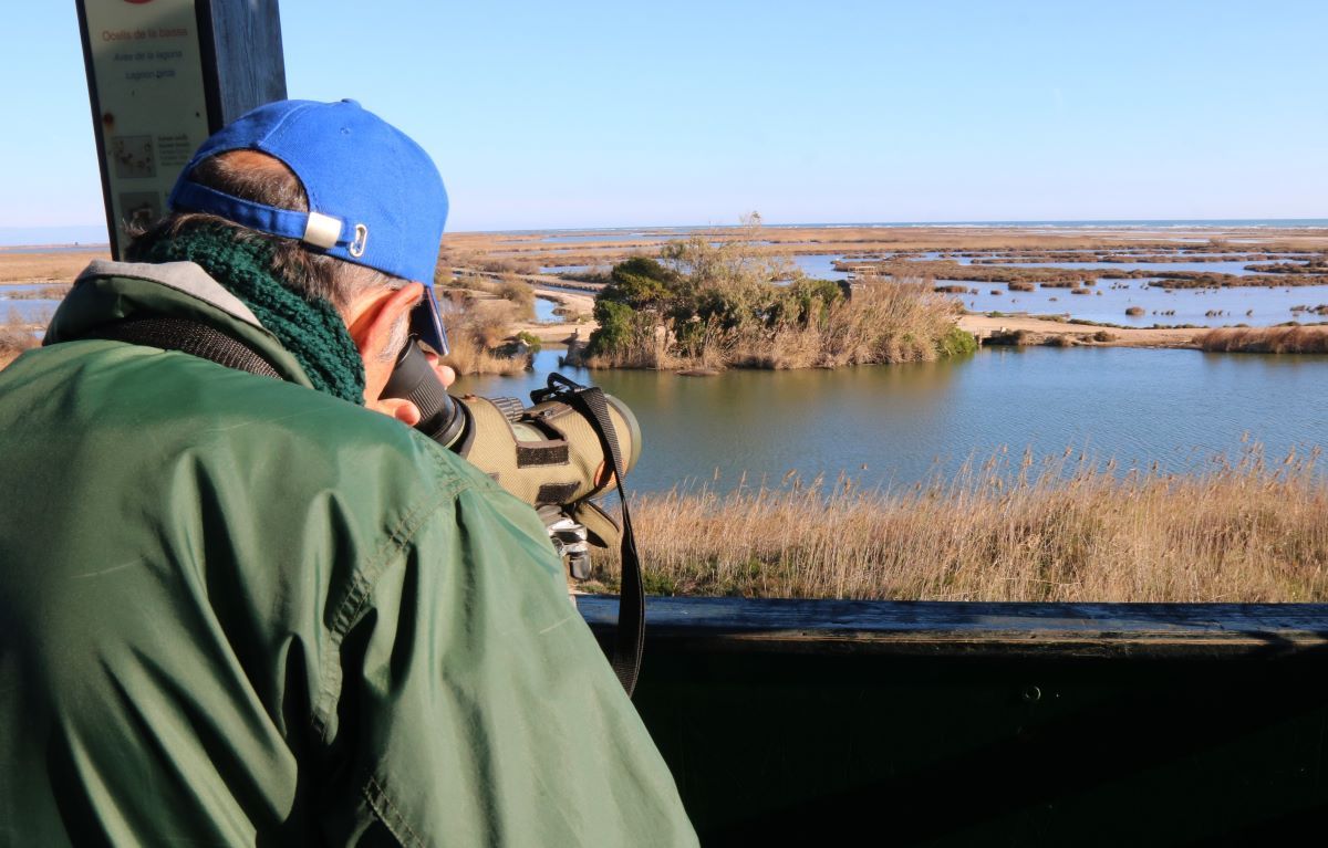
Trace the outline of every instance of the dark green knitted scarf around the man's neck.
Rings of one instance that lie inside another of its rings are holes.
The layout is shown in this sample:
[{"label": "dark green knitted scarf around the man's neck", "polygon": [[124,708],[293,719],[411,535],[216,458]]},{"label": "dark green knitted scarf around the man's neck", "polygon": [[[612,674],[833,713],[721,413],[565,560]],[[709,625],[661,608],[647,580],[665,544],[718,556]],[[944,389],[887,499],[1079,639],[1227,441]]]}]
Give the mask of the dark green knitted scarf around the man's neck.
[{"label": "dark green knitted scarf around the man's neck", "polygon": [[137,261],[193,261],[254,311],[300,364],[309,382],[344,401],[364,405],[364,361],[336,308],[299,295],[272,273],[272,246],[236,238],[223,227],[199,226],[137,246]]}]

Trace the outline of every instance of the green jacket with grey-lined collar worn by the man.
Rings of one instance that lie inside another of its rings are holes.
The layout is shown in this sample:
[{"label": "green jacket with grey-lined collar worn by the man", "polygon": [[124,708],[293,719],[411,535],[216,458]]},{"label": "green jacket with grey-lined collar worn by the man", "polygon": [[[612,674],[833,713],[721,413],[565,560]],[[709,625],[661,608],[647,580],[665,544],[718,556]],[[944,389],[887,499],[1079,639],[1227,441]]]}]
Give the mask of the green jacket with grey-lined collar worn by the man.
[{"label": "green jacket with grey-lined collar worn by the man", "polygon": [[[142,313],[286,381],[78,341]],[[0,372],[0,844],[70,843],[695,835],[534,511],[197,265],[94,263]]]}]

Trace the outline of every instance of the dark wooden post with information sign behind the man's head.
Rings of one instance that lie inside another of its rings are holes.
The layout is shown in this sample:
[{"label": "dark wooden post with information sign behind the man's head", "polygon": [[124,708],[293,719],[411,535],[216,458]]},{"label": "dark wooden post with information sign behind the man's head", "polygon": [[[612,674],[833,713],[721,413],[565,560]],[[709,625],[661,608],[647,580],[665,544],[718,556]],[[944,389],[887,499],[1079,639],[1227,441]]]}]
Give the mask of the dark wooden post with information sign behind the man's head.
[{"label": "dark wooden post with information sign behind the man's head", "polygon": [[181,169],[214,131],[286,97],[276,0],[76,0],[106,230],[166,211]]}]

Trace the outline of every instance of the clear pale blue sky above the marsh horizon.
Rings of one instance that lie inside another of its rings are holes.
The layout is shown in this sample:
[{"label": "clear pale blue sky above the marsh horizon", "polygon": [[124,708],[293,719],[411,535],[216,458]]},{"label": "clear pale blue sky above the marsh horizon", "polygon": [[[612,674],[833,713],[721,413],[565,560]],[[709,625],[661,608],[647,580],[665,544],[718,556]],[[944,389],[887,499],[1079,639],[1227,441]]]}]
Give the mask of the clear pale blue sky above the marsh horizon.
[{"label": "clear pale blue sky above the marsh horizon", "polygon": [[[97,226],[74,4],[11,9],[0,228]],[[286,0],[290,94],[449,230],[1328,216],[1328,3]],[[21,118],[20,118],[21,115]]]}]

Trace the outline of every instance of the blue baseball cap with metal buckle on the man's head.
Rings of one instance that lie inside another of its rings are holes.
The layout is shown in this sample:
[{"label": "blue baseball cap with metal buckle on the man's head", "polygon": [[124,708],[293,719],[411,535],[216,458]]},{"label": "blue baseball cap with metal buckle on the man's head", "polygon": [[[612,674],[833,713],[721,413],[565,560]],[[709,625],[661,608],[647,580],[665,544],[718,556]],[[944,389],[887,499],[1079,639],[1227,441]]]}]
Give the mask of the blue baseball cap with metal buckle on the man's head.
[{"label": "blue baseball cap with metal buckle on the man's head", "polygon": [[[191,179],[199,162],[231,150],[256,150],[286,163],[304,186],[309,211],[255,203]],[[433,295],[433,269],[448,220],[442,177],[420,145],[353,100],[283,100],[242,115],[203,142],[175,180],[169,203],[178,212],[218,215],[424,283],[412,330],[438,353],[448,353]]]}]

